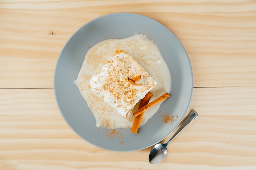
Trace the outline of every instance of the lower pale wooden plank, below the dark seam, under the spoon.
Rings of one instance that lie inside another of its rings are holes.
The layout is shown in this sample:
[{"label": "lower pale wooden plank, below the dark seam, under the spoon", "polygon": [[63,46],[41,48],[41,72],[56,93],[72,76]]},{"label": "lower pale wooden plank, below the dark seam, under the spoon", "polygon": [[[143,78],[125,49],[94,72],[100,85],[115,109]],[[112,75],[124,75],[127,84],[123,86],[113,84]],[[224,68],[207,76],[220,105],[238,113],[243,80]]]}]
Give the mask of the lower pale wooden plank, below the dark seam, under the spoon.
[{"label": "lower pale wooden plank, below the dark seam, under the spoon", "polygon": [[[54,102],[53,89],[2,89],[0,168],[256,168],[256,115],[250,111],[255,110],[255,89],[194,88],[193,94],[190,108],[198,110],[199,117],[171,143],[171,152],[166,159],[152,166],[147,163],[150,148],[136,152],[111,152],[78,137],[61,117]],[[237,103],[232,102],[235,94],[240,96]],[[246,108],[241,101],[248,94],[254,101],[247,103],[247,107],[254,108],[241,112]],[[200,102],[202,104],[198,105]],[[233,103],[229,107],[230,113],[221,111],[222,105],[228,103]],[[239,107],[242,109],[236,110]]]}]

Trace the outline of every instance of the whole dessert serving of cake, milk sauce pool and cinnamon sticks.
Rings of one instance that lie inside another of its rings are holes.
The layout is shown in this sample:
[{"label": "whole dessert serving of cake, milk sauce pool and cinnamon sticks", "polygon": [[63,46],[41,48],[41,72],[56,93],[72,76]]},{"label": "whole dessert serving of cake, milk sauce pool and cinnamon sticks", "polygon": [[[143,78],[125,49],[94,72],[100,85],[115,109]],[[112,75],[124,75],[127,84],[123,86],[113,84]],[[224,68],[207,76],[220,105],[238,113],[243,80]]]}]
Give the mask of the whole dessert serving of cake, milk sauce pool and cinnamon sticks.
[{"label": "whole dessert serving of cake, milk sauce pool and cinnamon sticks", "polygon": [[[171,74],[155,40],[135,34],[104,40],[88,48],[74,83],[87,102],[96,127],[131,128],[135,132],[157,113],[162,102],[154,101],[171,91]],[[115,54],[120,49],[125,53]],[[88,114],[86,109],[83,111]]]}]

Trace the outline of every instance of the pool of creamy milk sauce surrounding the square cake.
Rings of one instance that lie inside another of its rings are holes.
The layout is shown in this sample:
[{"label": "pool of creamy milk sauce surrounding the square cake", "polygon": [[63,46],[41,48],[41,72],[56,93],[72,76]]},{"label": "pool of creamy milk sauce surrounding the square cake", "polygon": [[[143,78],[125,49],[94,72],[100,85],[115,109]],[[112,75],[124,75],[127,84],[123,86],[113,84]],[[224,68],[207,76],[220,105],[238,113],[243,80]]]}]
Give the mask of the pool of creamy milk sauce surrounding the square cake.
[{"label": "pool of creamy milk sauce surrounding the square cake", "polygon": [[[150,91],[153,94],[150,102],[171,91],[171,74],[154,40],[150,40],[146,35],[136,34],[129,38],[99,42],[91,47],[85,55],[83,66],[75,81],[96,119],[97,127],[115,129],[132,126],[133,112],[127,117],[120,115],[115,108],[95,94],[89,86],[92,75],[99,73],[102,66],[115,54],[115,51],[121,49],[131,55],[157,81],[156,87]],[[135,106],[134,111],[137,110],[138,105]],[[143,126],[157,112],[159,107],[160,104],[157,104],[146,110],[140,126]]]}]

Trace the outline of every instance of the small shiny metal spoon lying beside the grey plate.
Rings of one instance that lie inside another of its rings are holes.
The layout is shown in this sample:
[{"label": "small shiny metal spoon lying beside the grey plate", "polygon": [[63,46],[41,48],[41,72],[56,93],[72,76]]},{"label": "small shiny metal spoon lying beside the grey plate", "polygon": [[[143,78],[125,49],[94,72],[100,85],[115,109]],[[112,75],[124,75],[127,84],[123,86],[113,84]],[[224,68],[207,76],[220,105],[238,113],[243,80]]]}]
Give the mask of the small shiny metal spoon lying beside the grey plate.
[{"label": "small shiny metal spoon lying beside the grey plate", "polygon": [[185,128],[191,121],[193,121],[196,117],[198,117],[198,114],[195,111],[192,111],[189,116],[186,118],[186,120],[183,122],[183,124],[180,126],[180,128],[175,132],[173,137],[169,141],[167,141],[165,144],[156,144],[149,153],[148,160],[151,164],[159,163],[161,162],[167,155],[167,145],[180,133],[180,131]]}]

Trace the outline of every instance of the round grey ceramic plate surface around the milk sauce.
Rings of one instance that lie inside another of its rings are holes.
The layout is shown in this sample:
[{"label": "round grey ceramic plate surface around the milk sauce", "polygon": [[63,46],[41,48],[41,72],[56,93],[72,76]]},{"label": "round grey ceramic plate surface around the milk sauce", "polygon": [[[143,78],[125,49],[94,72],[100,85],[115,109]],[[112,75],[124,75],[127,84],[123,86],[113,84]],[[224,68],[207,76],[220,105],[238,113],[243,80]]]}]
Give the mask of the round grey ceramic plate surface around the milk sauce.
[{"label": "round grey ceramic plate surface around the milk sauce", "polygon": [[[97,128],[95,118],[74,80],[85,54],[98,42],[144,34],[155,40],[171,73],[171,97],[139,128]],[[77,30],[63,47],[54,73],[54,93],[67,124],[94,146],[113,151],[148,148],[167,137],[182,121],[189,106],[193,75],[189,57],[175,35],[159,22],[133,13],[113,13],[96,18]],[[173,116],[173,117],[172,117]]]}]

